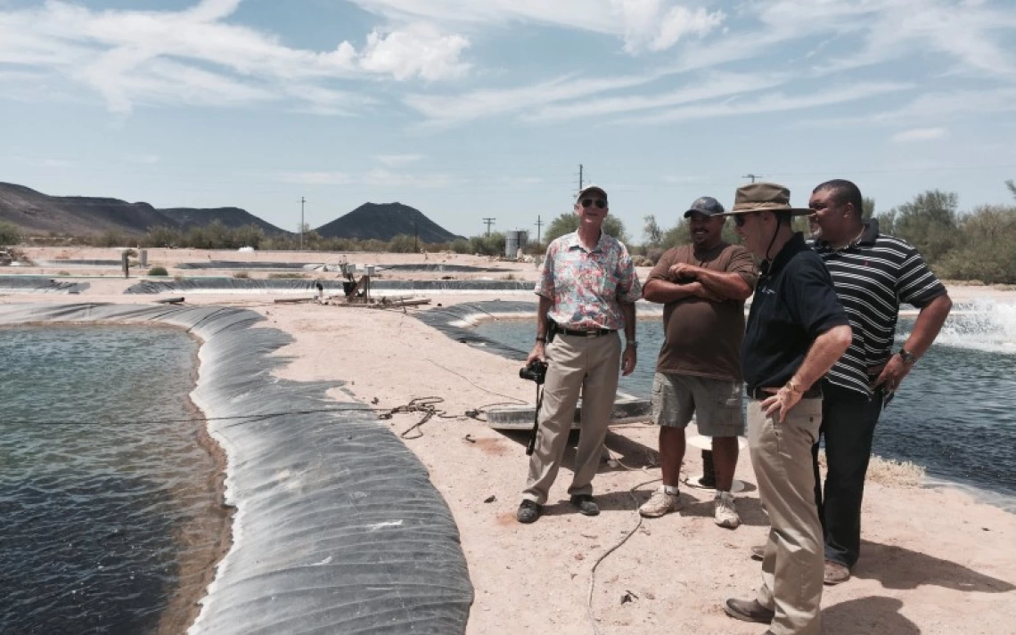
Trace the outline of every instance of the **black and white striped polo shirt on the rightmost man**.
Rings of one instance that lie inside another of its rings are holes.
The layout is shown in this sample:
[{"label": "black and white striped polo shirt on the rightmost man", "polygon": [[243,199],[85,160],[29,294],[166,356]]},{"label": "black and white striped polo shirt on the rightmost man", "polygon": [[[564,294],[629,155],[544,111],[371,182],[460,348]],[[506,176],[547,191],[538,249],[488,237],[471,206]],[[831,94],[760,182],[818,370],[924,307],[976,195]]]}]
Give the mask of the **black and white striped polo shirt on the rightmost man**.
[{"label": "black and white striped polo shirt on the rightmost man", "polygon": [[861,238],[843,249],[833,249],[821,239],[812,247],[829,269],[853,329],[850,347],[826,379],[871,396],[873,378],[868,369],[885,364],[893,355],[899,305],[919,309],[944,295],[946,288],[913,245],[879,234],[874,218],[866,220]]}]

